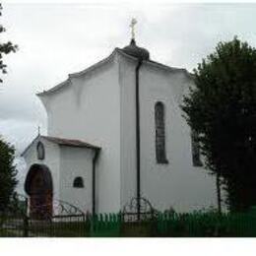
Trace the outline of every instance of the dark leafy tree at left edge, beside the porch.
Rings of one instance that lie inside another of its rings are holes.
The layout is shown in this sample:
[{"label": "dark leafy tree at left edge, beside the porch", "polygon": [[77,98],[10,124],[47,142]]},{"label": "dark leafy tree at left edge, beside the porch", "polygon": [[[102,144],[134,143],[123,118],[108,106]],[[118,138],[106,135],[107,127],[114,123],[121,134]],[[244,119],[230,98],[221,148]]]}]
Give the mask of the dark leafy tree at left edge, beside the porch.
[{"label": "dark leafy tree at left edge, beside the porch", "polygon": [[17,185],[15,149],[0,139],[0,211],[8,205]]}]

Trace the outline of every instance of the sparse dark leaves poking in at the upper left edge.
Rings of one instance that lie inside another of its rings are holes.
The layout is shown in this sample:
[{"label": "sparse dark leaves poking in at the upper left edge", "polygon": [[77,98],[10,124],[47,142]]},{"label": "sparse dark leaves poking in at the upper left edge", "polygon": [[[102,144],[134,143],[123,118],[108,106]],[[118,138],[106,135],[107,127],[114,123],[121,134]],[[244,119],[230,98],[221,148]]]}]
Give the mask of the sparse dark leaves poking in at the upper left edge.
[{"label": "sparse dark leaves poking in at the upper left edge", "polygon": [[[0,3],[0,16],[2,16],[2,4]],[[0,33],[5,32],[5,28],[0,25]],[[9,54],[10,52],[16,52],[18,50],[18,46],[16,44],[13,44],[11,41],[8,42],[1,42],[0,43],[0,71],[2,74],[6,74],[6,64],[3,62],[3,55]],[[2,83],[3,80],[0,78],[0,83]]]}]

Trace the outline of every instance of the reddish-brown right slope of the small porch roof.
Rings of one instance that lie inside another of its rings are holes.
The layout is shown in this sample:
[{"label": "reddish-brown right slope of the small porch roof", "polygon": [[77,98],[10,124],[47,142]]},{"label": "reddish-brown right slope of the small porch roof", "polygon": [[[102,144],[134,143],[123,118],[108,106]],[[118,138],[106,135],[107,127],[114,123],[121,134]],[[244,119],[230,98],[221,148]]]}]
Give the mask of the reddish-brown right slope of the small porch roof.
[{"label": "reddish-brown right slope of the small porch roof", "polygon": [[95,145],[80,141],[80,140],[71,140],[64,139],[58,137],[50,137],[50,136],[40,136],[42,139],[47,140],[49,142],[61,145],[61,146],[70,146],[70,147],[79,147],[79,148],[89,148],[89,149],[100,149]]}]

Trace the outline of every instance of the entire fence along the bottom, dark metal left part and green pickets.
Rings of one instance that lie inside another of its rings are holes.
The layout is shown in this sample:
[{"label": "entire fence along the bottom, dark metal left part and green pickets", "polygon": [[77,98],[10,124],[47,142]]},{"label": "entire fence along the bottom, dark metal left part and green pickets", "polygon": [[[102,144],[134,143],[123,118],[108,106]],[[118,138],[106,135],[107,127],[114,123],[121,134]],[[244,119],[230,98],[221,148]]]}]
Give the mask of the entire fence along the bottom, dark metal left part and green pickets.
[{"label": "entire fence along the bottom, dark metal left part and green pickets", "polygon": [[[0,220],[1,236],[90,237],[256,237],[256,209],[247,213],[158,213],[143,221],[127,221],[125,214],[87,215],[59,222],[27,222],[14,216]],[[24,228],[27,226],[27,228]]]}]

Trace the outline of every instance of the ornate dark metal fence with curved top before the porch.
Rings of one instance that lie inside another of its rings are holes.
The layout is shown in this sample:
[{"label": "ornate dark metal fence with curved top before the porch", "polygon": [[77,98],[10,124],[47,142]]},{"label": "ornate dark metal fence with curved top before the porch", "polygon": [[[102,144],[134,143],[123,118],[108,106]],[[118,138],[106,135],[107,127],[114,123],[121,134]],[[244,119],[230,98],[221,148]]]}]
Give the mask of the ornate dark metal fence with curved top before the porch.
[{"label": "ornate dark metal fence with curved top before the porch", "polygon": [[28,198],[16,195],[0,212],[0,236],[85,237],[90,235],[87,221],[89,218],[75,206],[55,200],[51,204],[50,212],[45,209],[49,208],[41,205],[33,208],[33,212],[29,207]]}]

